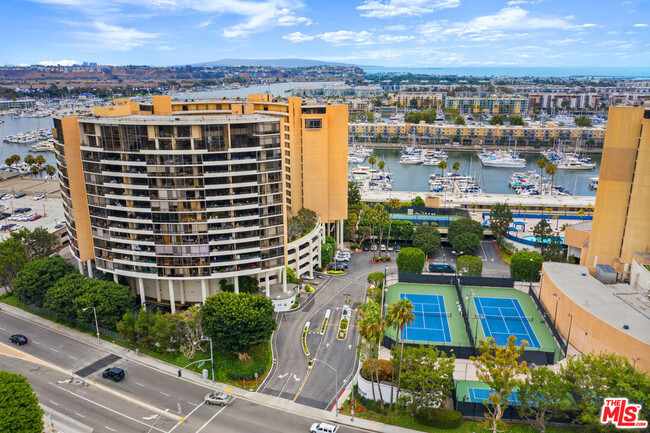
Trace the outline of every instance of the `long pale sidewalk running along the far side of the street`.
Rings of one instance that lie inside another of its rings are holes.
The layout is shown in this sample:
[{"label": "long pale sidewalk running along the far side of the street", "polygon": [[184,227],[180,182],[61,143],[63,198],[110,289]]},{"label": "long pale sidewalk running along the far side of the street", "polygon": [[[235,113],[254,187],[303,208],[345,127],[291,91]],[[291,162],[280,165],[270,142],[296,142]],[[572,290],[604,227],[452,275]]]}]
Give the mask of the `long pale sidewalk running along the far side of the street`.
[{"label": "long pale sidewalk running along the far side of the street", "polygon": [[[125,349],[121,346],[109,343],[107,341],[102,340],[101,343],[99,343],[97,341],[97,338],[93,337],[92,335],[84,334],[82,332],[79,332],[74,329],[70,329],[63,325],[58,325],[47,319],[41,318],[39,316],[28,313],[26,311],[23,311],[11,305],[7,305],[5,303],[0,303],[0,309],[5,313],[38,324],[40,326],[43,326],[44,328],[54,330],[63,335],[66,335],[67,337],[74,338],[89,346],[99,347],[115,355],[121,356],[122,358],[128,359],[133,362],[138,362],[150,368],[154,368],[178,380],[186,380],[189,382],[193,382],[198,385],[203,385],[209,389],[218,389],[221,391],[227,391],[237,396],[238,398],[250,401],[252,403],[264,405],[272,409],[282,410],[292,414],[300,414],[301,416],[312,418],[314,419],[314,421],[329,421],[340,425],[355,427],[365,431],[382,432],[382,433],[384,432],[385,433],[409,433],[409,432],[417,431],[417,430],[391,426],[388,424],[382,424],[375,421],[369,421],[369,420],[364,420],[359,418],[355,418],[354,421],[351,421],[351,418],[348,416],[336,416],[333,412],[330,413],[325,410],[316,409],[310,406],[294,403],[290,400],[285,400],[279,397],[273,397],[266,394],[248,392],[243,389],[230,387],[220,382],[213,383],[210,380],[204,379],[201,375],[190,371],[183,371],[183,377],[179,378],[178,367],[175,365],[167,364],[166,362],[160,361],[158,359],[152,358],[147,355],[136,354],[132,350]],[[72,375],[72,372],[69,373],[70,375]],[[339,398],[339,400],[342,401],[341,398]]]}]

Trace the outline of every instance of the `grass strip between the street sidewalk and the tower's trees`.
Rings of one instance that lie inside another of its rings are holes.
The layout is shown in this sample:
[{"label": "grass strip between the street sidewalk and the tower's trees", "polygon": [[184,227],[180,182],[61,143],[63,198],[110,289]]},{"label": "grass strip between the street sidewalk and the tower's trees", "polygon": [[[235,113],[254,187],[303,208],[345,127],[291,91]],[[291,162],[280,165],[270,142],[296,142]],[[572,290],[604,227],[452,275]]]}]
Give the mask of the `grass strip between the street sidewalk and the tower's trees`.
[{"label": "grass strip between the street sidewalk and the tower's trees", "polygon": [[[86,334],[92,334],[92,335],[95,334],[94,327],[91,327],[92,329],[88,330],[83,327],[74,326],[73,323],[57,320],[49,316],[48,314],[39,311],[34,311],[30,309],[27,305],[20,302],[18,299],[16,299],[16,297],[13,295],[3,295],[0,297],[0,300],[2,302],[20,308],[21,310],[28,311],[44,319],[65,325],[68,328],[76,329],[77,331],[84,332]],[[210,371],[209,343],[206,342],[201,343],[205,352],[197,351],[196,354],[194,355],[194,359],[190,360],[178,350],[163,353],[153,349],[144,348],[136,344],[132,344],[128,341],[111,338],[107,335],[100,335],[100,337],[103,340],[110,341],[111,343],[117,344],[122,347],[126,347],[131,350],[140,349],[140,352],[144,355],[151,356],[152,358],[159,359],[161,361],[167,362],[169,364],[173,364],[178,367],[185,367],[187,364],[191,362],[198,361],[200,359],[207,359],[203,365],[201,365],[201,363],[194,364],[190,366],[188,369],[195,371],[197,373],[201,373],[203,369],[207,369],[210,375],[209,377],[210,378],[212,377],[212,373]],[[248,351],[248,355],[250,356],[249,360],[240,361],[236,353],[214,348],[214,379],[218,382],[223,382],[223,383],[227,383],[230,385],[235,385],[243,388],[244,381],[241,380],[241,378],[249,377],[252,379],[254,377],[254,372],[258,372],[259,377],[257,380],[257,384],[262,383],[264,377],[266,377],[266,374],[268,374],[269,370],[271,369],[271,364],[272,364],[270,341],[259,344],[257,346],[253,346]],[[246,380],[246,382],[247,382],[246,389],[255,388],[255,386],[251,386],[255,384],[254,379]]]}]

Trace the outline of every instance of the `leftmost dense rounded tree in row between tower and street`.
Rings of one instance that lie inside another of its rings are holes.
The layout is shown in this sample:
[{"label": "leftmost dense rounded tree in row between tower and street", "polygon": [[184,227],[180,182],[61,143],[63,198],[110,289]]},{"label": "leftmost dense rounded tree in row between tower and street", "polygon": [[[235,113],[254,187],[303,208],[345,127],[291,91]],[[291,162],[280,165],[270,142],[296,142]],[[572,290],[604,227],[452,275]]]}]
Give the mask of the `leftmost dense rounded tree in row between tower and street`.
[{"label": "leftmost dense rounded tree in row between tower and street", "polygon": [[76,273],[73,265],[58,254],[28,262],[14,280],[16,297],[27,304],[43,305],[45,293],[61,278]]}]

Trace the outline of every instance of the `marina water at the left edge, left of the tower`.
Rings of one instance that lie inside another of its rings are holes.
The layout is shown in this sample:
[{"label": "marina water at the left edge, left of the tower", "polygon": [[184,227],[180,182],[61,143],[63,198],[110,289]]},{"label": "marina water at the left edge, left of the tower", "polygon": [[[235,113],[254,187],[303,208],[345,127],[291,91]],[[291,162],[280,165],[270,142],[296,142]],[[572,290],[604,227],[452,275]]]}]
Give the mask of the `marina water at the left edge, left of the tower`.
[{"label": "marina water at the left edge, left of the tower", "polygon": [[7,135],[16,135],[37,129],[52,129],[54,123],[51,117],[21,117],[14,119],[11,116],[0,116],[0,120],[5,121],[5,123],[0,123],[0,164],[4,164],[5,159],[11,155],[18,155],[22,160],[27,154],[31,154],[33,156],[43,155],[45,161],[47,161],[45,165],[51,164],[56,167],[54,152],[31,152],[27,148],[27,146],[36,144],[38,141],[25,144],[2,142]]}]

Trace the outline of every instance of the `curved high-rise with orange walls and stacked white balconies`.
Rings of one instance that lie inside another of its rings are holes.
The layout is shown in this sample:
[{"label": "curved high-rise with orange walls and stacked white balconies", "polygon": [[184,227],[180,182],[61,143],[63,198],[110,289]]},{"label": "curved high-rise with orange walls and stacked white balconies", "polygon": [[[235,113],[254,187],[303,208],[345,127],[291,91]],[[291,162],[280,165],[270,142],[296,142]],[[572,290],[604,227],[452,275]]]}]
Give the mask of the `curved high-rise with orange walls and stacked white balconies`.
[{"label": "curved high-rise with orange walls and stacked white balconies", "polygon": [[[272,100],[116,101],[55,118],[72,252],[172,309],[225,279],[282,283],[320,264],[347,218],[347,106]],[[287,217],[320,216],[289,244]],[[331,229],[329,229],[332,227]],[[336,228],[336,230],[334,230]]]}]

